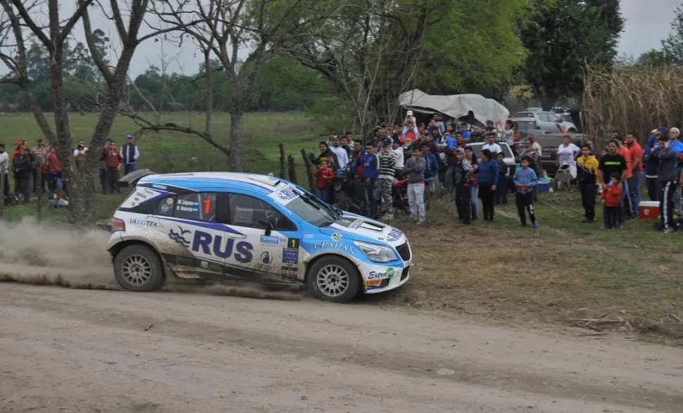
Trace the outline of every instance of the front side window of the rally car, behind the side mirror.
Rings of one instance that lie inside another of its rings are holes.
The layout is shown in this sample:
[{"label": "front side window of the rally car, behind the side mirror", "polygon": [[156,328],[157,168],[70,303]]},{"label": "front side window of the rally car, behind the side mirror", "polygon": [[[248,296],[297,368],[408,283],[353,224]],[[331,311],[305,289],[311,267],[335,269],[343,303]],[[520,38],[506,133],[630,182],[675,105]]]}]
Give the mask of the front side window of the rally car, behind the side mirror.
[{"label": "front side window of the rally car, behind the side mirror", "polygon": [[229,194],[230,218],[228,224],[240,227],[265,229],[270,222],[275,231],[296,231],[296,225],[269,203],[249,195]]}]

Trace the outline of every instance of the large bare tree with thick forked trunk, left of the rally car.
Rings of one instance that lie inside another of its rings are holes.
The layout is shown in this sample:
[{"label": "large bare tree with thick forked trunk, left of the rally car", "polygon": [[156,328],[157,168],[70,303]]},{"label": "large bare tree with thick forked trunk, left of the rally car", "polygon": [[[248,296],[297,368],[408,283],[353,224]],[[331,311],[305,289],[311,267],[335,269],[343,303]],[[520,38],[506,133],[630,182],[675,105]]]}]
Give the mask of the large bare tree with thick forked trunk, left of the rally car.
[{"label": "large bare tree with thick forked trunk, left of the rally car", "polygon": [[[25,91],[28,103],[32,108],[33,114],[41,128],[44,136],[54,148],[62,166],[63,179],[68,184],[70,205],[69,214],[71,222],[86,222],[93,201],[92,182],[94,171],[99,162],[104,143],[107,139],[115,115],[118,113],[120,99],[126,83],[127,72],[130,62],[137,46],[146,39],[156,37],[158,34],[170,32],[170,30],[153,30],[148,34],[141,35],[140,29],[143,26],[145,15],[148,11],[149,0],[130,0],[129,2],[117,0],[78,0],[77,7],[72,15],[66,19],[61,19],[61,7],[58,0],[34,1],[26,4],[22,0],[0,0],[6,14],[7,25],[0,27],[11,32],[11,35],[3,35],[4,41],[10,38],[14,42],[5,42],[0,58],[8,65],[12,75],[4,79],[5,82],[14,82]],[[49,21],[42,26],[37,20],[40,13],[38,9],[46,6]],[[90,20],[91,9],[99,13],[104,13],[108,20],[115,25],[118,33],[121,51],[118,61],[108,65],[97,50],[94,42],[92,24]],[[71,132],[68,115],[68,104],[64,93],[64,44],[65,39],[70,35],[73,27],[82,20],[87,46],[101,73],[105,89],[99,96],[98,103],[100,108],[99,120],[89,144],[90,151],[85,163],[84,176],[76,173],[73,153],[71,151]],[[184,25],[192,25],[196,22],[188,20]],[[35,91],[27,75],[25,33],[23,27],[30,30],[32,37],[38,41],[48,51],[51,66],[51,87],[54,99],[55,132],[46,121],[40,109]],[[174,30],[178,27],[174,27]]]}]

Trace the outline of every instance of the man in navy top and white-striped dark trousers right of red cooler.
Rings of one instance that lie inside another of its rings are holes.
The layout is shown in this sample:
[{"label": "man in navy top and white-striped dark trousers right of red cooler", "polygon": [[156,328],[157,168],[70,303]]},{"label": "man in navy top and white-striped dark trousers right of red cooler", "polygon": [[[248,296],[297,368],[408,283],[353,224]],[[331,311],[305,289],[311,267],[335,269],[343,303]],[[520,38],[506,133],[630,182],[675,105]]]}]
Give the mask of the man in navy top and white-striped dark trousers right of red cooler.
[{"label": "man in navy top and white-striped dark trousers right of red cooler", "polygon": [[650,153],[650,158],[658,162],[657,176],[659,177],[659,211],[662,217],[665,233],[675,231],[674,224],[674,193],[677,189],[677,159],[676,151],[671,147],[667,136],[659,137],[659,145]]}]

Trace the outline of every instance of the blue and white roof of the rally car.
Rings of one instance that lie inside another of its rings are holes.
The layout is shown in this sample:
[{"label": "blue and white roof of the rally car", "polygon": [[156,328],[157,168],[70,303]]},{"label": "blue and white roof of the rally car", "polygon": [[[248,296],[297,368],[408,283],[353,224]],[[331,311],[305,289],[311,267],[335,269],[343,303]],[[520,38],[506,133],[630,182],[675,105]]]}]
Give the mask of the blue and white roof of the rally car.
[{"label": "blue and white roof of the rally car", "polygon": [[284,188],[289,181],[269,175],[242,172],[185,172],[150,174],[138,182],[138,185],[142,186],[154,184],[190,191],[243,191],[265,196]]}]

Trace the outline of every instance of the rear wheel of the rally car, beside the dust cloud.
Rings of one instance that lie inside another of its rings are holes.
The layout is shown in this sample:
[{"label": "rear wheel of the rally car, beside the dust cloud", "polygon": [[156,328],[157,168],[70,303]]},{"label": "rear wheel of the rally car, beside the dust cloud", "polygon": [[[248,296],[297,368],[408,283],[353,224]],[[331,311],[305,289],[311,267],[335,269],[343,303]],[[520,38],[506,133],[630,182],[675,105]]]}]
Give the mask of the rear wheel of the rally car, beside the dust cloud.
[{"label": "rear wheel of the rally car, beside the dust cloud", "polygon": [[114,276],[118,284],[128,291],[156,291],[163,284],[163,267],[155,250],[134,244],[116,255]]}]

